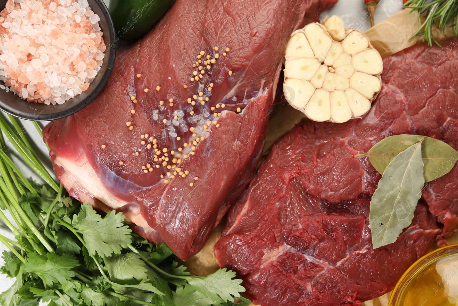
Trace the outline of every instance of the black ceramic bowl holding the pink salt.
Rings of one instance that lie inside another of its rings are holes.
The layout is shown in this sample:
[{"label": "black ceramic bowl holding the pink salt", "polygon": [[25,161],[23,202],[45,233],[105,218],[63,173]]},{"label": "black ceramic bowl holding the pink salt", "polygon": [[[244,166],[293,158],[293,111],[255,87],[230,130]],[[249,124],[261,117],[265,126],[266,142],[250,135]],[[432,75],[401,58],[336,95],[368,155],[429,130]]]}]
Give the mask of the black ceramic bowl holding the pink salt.
[{"label": "black ceramic bowl holding the pink salt", "polygon": [[[5,8],[7,0],[0,0],[0,11]],[[49,121],[70,116],[80,111],[83,107],[91,103],[102,91],[107,83],[114,66],[116,53],[116,38],[113,21],[103,0],[87,0],[91,10],[98,14],[98,22],[101,31],[104,33],[104,43],[107,45],[105,50],[104,63],[93,79],[89,88],[80,95],[65,101],[62,104],[46,105],[22,100],[13,92],[6,92],[0,89],[0,109],[13,116],[35,121]],[[0,81],[3,84],[3,82]]]}]

